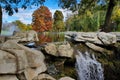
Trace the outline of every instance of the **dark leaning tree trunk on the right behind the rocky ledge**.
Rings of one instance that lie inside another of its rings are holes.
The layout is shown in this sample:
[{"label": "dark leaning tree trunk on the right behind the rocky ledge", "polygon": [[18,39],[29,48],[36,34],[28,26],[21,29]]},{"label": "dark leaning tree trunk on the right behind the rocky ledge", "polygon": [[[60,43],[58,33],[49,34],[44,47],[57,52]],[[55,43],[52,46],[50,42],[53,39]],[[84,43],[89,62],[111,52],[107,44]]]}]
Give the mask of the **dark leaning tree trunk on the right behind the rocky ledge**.
[{"label": "dark leaning tree trunk on the right behind the rocky ledge", "polygon": [[110,22],[111,22],[111,15],[112,15],[114,6],[115,6],[115,0],[110,0],[109,5],[108,5],[108,9],[107,9],[107,13],[106,13],[106,17],[105,17],[105,22],[102,26],[102,31],[104,31],[104,32],[111,31]]}]

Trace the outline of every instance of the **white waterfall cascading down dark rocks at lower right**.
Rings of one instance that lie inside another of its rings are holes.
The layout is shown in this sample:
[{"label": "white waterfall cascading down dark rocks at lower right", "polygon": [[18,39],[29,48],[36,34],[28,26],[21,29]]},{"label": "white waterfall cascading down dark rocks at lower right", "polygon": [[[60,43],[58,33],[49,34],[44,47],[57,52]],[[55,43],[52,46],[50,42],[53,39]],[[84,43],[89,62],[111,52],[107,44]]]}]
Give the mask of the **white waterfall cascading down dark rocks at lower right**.
[{"label": "white waterfall cascading down dark rocks at lower right", "polygon": [[82,54],[78,51],[76,55],[76,68],[78,80],[104,80],[101,64],[95,59],[95,56],[88,52]]}]

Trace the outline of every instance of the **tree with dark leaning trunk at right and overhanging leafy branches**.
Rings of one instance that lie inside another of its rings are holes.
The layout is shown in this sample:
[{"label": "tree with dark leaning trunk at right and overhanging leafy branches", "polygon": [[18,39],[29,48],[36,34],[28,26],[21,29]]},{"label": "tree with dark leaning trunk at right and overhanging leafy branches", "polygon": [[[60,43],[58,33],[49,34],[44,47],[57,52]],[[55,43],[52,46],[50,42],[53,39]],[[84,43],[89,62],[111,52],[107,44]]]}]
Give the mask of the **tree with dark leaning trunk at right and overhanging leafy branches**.
[{"label": "tree with dark leaning trunk at right and overhanging leafy branches", "polygon": [[113,8],[119,0],[69,0],[66,3],[66,0],[59,0],[59,6],[63,8],[70,9],[72,11],[77,11],[79,14],[83,14],[87,9],[92,9],[94,6],[97,5],[107,5],[106,17],[104,24],[102,26],[102,31],[109,32],[110,30],[110,23],[111,23],[111,15],[113,12]]}]

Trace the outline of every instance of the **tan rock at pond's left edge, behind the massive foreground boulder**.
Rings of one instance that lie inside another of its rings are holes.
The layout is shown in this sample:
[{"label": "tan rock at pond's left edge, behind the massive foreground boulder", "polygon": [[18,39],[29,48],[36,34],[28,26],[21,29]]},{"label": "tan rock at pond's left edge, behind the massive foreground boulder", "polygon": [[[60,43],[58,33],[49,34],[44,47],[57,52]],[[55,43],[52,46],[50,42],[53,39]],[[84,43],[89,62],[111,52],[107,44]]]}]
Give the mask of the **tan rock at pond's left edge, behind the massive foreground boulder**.
[{"label": "tan rock at pond's left edge, behind the massive foreground boulder", "polygon": [[18,40],[19,42],[39,41],[37,32],[30,30],[24,32],[14,32],[14,35],[9,37],[10,40]]}]

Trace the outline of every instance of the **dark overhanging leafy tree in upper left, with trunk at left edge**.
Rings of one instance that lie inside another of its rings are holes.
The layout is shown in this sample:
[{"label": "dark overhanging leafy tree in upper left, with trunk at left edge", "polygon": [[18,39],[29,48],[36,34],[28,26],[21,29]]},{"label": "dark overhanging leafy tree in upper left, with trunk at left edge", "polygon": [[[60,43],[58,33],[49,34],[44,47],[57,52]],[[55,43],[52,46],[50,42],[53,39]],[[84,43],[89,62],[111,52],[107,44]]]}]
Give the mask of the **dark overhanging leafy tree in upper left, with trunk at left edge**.
[{"label": "dark overhanging leafy tree in upper left, with trunk at left edge", "polygon": [[45,0],[0,0],[0,33],[2,29],[2,9],[11,16],[14,12],[18,12],[18,8],[26,9],[32,5],[38,6],[44,2]]}]

